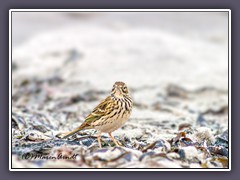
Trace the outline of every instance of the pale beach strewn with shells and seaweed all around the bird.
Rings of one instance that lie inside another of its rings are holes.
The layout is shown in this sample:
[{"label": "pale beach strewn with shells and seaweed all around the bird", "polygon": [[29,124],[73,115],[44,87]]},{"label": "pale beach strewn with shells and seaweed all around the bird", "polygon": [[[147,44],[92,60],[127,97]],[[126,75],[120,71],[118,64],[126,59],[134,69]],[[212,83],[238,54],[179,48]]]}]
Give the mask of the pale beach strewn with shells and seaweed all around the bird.
[{"label": "pale beach strewn with shells and seaweed all around the bird", "polygon": [[[219,12],[14,13],[15,165],[64,166],[20,158],[50,146],[47,155],[81,152],[69,162],[74,168],[226,168],[227,18]],[[114,132],[125,148],[106,143],[99,151],[96,139],[81,138],[88,132],[71,141],[80,144],[55,139],[80,125],[119,80],[134,100],[130,120]]]}]

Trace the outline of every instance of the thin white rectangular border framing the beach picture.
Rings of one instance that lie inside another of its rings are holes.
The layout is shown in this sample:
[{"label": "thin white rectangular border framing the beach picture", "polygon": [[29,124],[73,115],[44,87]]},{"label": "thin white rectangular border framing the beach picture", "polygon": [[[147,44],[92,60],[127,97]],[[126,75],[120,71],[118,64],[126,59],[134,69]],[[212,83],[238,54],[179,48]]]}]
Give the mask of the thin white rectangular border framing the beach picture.
[{"label": "thin white rectangular border framing the beach picture", "polygon": [[9,171],[231,171],[231,136],[228,168],[12,168],[12,12],[228,12],[228,134],[231,135],[231,10],[230,9],[10,9],[9,10]]}]

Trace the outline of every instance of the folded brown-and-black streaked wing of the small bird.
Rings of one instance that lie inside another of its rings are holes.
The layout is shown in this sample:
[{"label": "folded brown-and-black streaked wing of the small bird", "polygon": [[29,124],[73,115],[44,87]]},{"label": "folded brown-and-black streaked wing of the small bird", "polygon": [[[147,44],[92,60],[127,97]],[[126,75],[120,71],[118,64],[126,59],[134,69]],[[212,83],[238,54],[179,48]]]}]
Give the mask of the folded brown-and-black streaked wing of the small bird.
[{"label": "folded brown-and-black streaked wing of the small bird", "polygon": [[91,123],[100,119],[102,116],[108,114],[115,108],[116,104],[111,99],[111,96],[108,96],[104,99],[93,111],[86,117],[85,121],[81,125],[83,128],[91,126]]}]

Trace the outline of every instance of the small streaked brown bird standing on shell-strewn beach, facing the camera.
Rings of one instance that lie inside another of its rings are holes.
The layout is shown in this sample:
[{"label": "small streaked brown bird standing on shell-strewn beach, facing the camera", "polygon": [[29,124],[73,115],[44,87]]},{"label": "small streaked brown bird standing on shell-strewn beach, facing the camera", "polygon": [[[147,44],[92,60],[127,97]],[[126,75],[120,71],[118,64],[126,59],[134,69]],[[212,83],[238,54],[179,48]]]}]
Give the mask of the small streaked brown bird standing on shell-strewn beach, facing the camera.
[{"label": "small streaked brown bird standing on shell-strewn beach, facing the camera", "polygon": [[124,82],[115,82],[111,95],[95,107],[78,128],[57,136],[67,138],[81,130],[96,129],[98,130],[97,139],[100,148],[102,147],[101,133],[108,133],[113,142],[119,146],[111,133],[124,125],[130,117],[132,107],[132,98],[128,94],[126,84]]}]

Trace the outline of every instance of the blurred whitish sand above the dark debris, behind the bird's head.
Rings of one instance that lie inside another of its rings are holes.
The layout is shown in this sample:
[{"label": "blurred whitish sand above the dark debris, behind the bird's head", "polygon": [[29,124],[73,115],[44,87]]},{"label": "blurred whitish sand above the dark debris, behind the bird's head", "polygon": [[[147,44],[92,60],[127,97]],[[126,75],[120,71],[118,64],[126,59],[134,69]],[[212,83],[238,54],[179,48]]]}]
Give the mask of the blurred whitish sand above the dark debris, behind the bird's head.
[{"label": "blurred whitish sand above the dark debris, behind the bird's head", "polygon": [[116,80],[227,88],[227,12],[13,12],[12,20],[13,60],[33,76],[74,61],[64,78],[108,89]]}]

